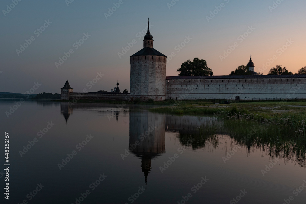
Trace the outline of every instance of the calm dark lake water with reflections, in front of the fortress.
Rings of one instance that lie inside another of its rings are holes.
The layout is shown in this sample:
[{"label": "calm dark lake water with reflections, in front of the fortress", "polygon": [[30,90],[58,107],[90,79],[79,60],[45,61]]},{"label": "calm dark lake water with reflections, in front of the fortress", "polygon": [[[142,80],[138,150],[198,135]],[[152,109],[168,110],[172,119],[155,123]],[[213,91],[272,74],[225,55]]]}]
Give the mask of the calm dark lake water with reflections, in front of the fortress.
[{"label": "calm dark lake water with reflections, in front of the fortress", "polygon": [[1,203],[305,203],[303,165],[230,135],[199,137],[215,118],[41,101],[7,117],[15,101],[0,100]]}]

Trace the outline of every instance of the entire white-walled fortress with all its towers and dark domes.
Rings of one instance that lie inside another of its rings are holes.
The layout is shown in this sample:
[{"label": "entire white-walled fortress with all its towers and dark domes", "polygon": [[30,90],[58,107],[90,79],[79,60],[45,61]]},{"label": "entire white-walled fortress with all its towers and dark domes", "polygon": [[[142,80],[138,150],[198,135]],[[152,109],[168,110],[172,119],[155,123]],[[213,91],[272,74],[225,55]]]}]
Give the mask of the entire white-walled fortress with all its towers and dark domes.
[{"label": "entire white-walled fortress with all its towers and dark domes", "polygon": [[118,82],[111,92],[74,93],[67,80],[61,89],[61,99],[162,101],[306,98],[306,75],[259,75],[252,56],[247,65],[250,75],[166,76],[167,56],[153,48],[153,41],[148,23],[143,49],[130,56],[130,93],[121,93]]}]

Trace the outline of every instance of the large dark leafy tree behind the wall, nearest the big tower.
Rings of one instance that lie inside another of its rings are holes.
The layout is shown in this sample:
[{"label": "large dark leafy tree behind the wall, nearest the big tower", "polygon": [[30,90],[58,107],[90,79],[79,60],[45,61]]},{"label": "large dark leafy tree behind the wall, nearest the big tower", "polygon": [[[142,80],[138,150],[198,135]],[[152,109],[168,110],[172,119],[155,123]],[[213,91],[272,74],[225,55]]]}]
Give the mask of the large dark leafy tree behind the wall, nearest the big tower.
[{"label": "large dark leafy tree behind the wall, nearest the big tower", "polygon": [[181,68],[177,71],[180,72],[178,76],[212,76],[214,74],[211,69],[207,67],[207,62],[197,57],[194,58],[193,61],[187,60],[183,62]]}]

